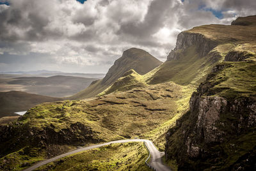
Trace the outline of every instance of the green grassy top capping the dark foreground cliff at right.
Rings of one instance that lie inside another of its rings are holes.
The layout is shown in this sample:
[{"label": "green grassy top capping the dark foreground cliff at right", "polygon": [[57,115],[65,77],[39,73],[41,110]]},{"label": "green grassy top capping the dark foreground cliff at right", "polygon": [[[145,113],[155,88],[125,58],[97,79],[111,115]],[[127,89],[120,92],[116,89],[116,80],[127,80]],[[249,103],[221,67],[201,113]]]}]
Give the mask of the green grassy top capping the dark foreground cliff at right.
[{"label": "green grassy top capping the dark foreground cliff at right", "polygon": [[206,95],[222,96],[228,100],[256,96],[256,63],[225,62],[221,72],[212,73],[207,84],[214,85]]}]

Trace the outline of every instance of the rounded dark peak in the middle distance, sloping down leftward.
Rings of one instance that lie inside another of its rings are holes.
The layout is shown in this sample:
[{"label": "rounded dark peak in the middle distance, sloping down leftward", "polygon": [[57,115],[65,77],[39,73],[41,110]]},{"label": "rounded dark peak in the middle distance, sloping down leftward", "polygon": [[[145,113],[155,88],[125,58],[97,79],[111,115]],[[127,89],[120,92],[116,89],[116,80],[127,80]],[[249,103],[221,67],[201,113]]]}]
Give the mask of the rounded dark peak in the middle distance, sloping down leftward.
[{"label": "rounded dark peak in the middle distance, sloping down leftward", "polygon": [[102,80],[92,82],[88,88],[75,94],[74,96],[71,96],[69,99],[90,98],[102,93],[102,91],[108,88],[129,70],[133,69],[137,73],[144,75],[160,64],[162,64],[161,61],[150,55],[145,50],[141,50],[139,48],[130,48],[125,50],[122,57],[115,61]]}]

